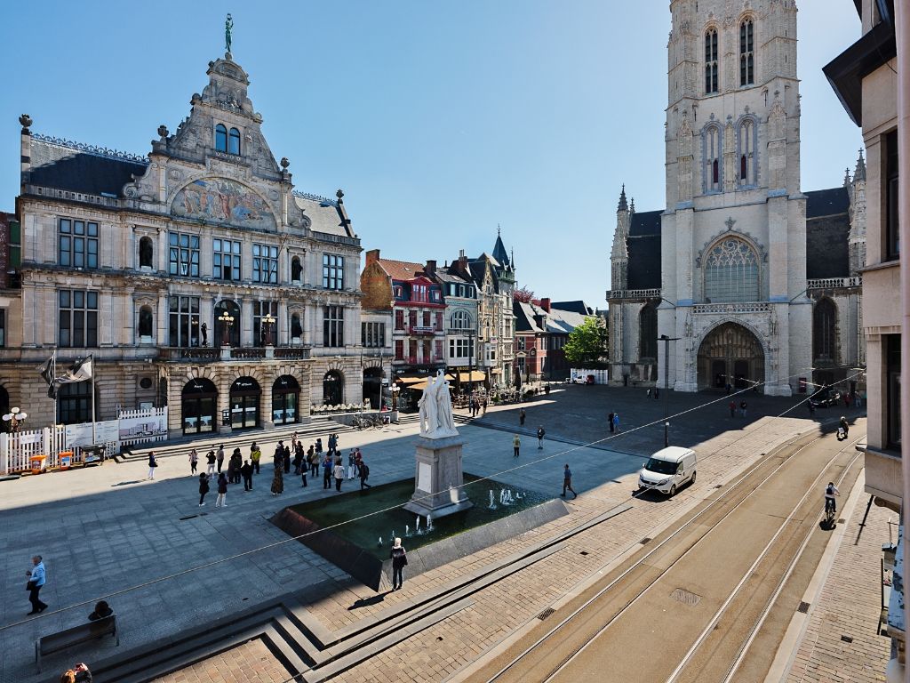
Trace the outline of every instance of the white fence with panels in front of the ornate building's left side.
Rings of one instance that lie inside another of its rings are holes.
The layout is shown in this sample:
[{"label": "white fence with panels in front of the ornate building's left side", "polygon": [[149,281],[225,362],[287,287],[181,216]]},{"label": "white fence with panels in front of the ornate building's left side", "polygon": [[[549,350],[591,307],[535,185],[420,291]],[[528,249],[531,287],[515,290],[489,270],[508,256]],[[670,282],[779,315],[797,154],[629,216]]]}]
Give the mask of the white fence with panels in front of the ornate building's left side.
[{"label": "white fence with panels in front of the ornate building's left side", "polygon": [[[106,446],[110,457],[124,446],[167,440],[167,406],[146,411],[122,411],[116,420],[95,423],[94,443]],[[0,474],[32,468],[33,455],[45,455],[44,468],[58,467],[60,453],[73,452],[72,462],[81,463],[82,449],[91,445],[92,423],[59,424],[29,432],[0,433]]]}]

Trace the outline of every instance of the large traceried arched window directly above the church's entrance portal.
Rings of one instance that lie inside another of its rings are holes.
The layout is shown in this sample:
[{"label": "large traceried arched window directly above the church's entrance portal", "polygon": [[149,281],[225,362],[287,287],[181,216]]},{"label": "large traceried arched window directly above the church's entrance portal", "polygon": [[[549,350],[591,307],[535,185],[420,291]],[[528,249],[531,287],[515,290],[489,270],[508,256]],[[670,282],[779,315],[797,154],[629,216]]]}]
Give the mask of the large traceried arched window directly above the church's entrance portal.
[{"label": "large traceried arched window directly above the church's entrance portal", "polygon": [[758,255],[744,240],[727,237],[708,251],[705,301],[758,301]]}]

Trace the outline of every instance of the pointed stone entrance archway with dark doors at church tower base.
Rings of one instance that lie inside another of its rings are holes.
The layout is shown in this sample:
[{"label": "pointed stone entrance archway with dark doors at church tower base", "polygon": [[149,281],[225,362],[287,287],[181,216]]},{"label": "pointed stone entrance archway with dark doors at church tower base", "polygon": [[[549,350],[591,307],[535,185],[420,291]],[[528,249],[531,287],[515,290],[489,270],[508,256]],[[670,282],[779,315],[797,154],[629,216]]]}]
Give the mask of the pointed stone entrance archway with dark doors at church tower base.
[{"label": "pointed stone entrance archway with dark doors at church tower base", "polygon": [[736,389],[764,382],[762,342],[743,325],[723,322],[708,332],[698,347],[698,388]]}]

